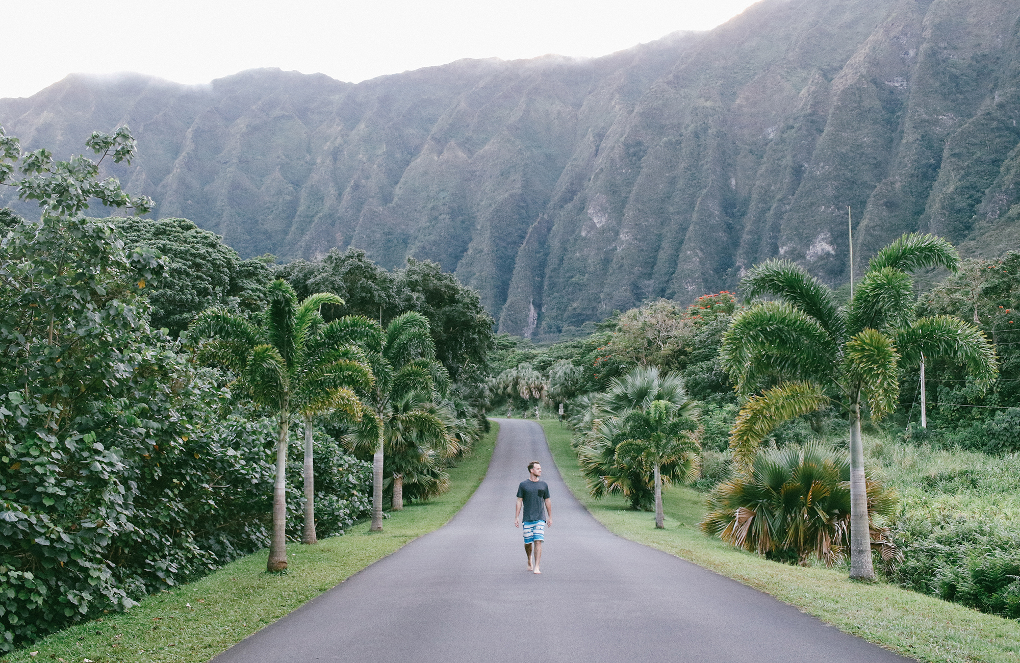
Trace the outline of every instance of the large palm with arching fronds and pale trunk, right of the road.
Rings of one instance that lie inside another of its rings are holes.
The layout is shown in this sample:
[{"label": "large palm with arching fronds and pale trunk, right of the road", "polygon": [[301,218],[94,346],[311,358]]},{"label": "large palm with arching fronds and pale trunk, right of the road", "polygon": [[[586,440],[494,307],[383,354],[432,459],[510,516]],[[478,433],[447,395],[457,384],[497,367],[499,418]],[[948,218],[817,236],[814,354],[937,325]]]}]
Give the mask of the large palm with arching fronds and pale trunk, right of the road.
[{"label": "large palm with arching fronds and pale trunk, right of the road", "polygon": [[915,318],[913,279],[921,267],[956,269],[953,246],[930,235],[905,235],[879,251],[848,307],[832,291],[788,260],[770,260],[742,282],[748,297],[774,295],[738,313],[723,335],[720,355],[742,396],[750,396],[730,434],[743,471],[776,425],[835,402],[850,419],[851,577],[874,578],[868,533],[861,416],[891,411],[900,366],[921,353],[966,365],[980,382],[997,374],[994,350],[974,325],[952,316]]}]

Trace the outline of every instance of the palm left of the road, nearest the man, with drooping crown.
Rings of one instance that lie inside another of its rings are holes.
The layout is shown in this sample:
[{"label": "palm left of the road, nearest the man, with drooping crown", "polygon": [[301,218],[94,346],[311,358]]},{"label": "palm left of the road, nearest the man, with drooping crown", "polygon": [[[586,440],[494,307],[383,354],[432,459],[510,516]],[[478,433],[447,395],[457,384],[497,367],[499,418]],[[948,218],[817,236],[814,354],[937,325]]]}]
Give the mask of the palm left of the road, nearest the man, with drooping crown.
[{"label": "palm left of the road, nearest the man, with drooping crown", "polygon": [[[353,324],[361,316],[349,316]],[[375,324],[372,322],[371,324]],[[344,443],[349,449],[373,449],[372,454],[372,531],[382,530],[384,461],[388,442],[393,443],[404,435],[404,429],[414,430],[422,438],[445,438],[445,430],[425,417],[420,408],[402,410],[402,404],[413,393],[431,396],[437,388],[445,387],[446,369],[436,361],[436,345],[428,333],[428,319],[411,311],[394,318],[384,330],[375,325],[371,333],[362,333],[360,343],[366,351],[375,382],[366,400],[374,416],[362,417],[359,425],[348,435]],[[416,401],[422,403],[424,401]],[[427,425],[426,425],[427,424]],[[402,492],[403,476],[394,475],[394,488]],[[395,508],[403,508],[403,501]]]}]

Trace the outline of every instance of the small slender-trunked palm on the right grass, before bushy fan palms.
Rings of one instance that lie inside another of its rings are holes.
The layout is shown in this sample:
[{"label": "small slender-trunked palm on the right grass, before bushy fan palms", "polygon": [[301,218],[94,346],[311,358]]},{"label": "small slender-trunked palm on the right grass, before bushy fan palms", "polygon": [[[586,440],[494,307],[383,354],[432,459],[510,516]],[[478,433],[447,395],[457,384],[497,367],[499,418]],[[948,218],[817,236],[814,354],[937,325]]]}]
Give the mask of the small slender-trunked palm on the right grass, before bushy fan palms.
[{"label": "small slender-trunked palm on the right grass, before bushy fan palms", "polygon": [[[666,463],[677,462],[701,451],[696,435],[697,418],[678,414],[669,401],[653,401],[645,410],[633,410],[623,419],[626,440],[616,446],[616,462],[648,471],[655,476],[655,526],[663,529],[662,473]],[[691,470],[696,464],[690,463]],[[688,473],[691,473],[688,471]],[[686,477],[685,477],[686,478]]]}]

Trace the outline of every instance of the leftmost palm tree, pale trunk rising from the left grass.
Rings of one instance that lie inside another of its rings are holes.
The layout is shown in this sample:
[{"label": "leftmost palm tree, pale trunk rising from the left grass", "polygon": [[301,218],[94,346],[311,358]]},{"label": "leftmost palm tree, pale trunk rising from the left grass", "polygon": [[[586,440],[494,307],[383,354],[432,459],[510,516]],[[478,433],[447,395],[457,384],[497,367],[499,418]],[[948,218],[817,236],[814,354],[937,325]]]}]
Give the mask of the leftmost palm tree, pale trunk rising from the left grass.
[{"label": "leftmost palm tree, pale trunk rising from the left grass", "polygon": [[[360,401],[354,390],[367,390],[372,373],[360,350],[332,344],[321,334],[324,325],[319,308],[342,302],[339,297],[319,293],[299,304],[294,289],[285,280],[273,282],[267,294],[269,306],[260,325],[226,311],[208,310],[191,324],[189,336],[201,342],[200,361],[226,367],[235,375],[233,388],[239,396],[276,414],[276,479],[266,568],[280,571],[287,568],[287,447],[292,412],[333,409],[352,420],[360,419]],[[311,426],[307,423],[306,419],[305,480],[310,487],[307,455]]]}]

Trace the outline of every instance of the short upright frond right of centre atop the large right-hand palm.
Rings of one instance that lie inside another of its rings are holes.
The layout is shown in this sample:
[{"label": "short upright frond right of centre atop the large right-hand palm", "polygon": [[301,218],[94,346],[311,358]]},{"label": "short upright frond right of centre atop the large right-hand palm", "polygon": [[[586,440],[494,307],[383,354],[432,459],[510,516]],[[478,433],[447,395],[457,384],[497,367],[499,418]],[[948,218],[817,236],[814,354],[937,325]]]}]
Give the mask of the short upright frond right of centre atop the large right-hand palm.
[{"label": "short upright frond right of centre atop the large right-hand palm", "polygon": [[892,267],[872,269],[854,291],[850,305],[850,333],[861,329],[895,329],[914,316],[914,280]]}]

